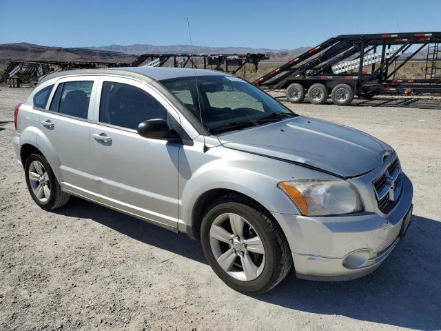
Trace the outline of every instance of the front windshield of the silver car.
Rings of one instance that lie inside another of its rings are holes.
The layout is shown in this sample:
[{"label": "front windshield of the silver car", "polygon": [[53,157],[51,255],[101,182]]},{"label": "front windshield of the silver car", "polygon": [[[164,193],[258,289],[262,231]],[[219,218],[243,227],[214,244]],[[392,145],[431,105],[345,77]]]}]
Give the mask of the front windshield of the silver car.
[{"label": "front windshield of the silver car", "polygon": [[[161,81],[204,127],[218,134],[265,125],[296,116],[252,84],[231,76],[199,76],[199,99],[194,77]],[[201,106],[201,113],[199,112]]]}]

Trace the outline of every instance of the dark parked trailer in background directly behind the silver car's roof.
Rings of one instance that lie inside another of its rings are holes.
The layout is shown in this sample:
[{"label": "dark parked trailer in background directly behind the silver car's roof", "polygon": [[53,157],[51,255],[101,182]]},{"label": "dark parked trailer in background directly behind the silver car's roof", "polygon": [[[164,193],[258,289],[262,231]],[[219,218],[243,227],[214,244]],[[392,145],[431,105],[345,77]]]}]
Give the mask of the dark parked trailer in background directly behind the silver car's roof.
[{"label": "dark parked trailer in background directly behind the silver car's roof", "polygon": [[[140,55],[130,66],[157,66],[168,64],[174,68],[198,68],[201,61],[204,69],[212,69],[237,74],[247,63],[252,64],[258,70],[258,63],[269,59],[269,55],[261,53],[247,54],[143,54]],[[225,66],[225,70],[220,66]],[[231,68],[234,67],[234,68]]]}]

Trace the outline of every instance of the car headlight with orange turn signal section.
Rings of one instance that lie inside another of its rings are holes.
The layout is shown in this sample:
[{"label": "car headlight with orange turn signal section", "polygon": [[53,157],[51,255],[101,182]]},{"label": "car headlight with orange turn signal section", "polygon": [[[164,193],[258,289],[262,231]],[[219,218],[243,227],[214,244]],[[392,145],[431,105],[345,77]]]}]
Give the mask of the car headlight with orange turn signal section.
[{"label": "car headlight with orange turn signal section", "polygon": [[305,216],[325,216],[360,212],[356,190],[344,180],[280,181],[277,184]]}]

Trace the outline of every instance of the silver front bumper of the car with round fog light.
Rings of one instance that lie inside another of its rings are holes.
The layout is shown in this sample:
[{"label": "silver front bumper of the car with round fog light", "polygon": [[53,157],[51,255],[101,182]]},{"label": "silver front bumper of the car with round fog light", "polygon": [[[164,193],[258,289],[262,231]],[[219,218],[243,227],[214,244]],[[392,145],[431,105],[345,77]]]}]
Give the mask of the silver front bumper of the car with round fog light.
[{"label": "silver front bumper of the car with round fog light", "polygon": [[402,195],[381,217],[361,212],[339,217],[304,217],[273,212],[289,242],[298,278],[356,279],[376,270],[396,247],[412,205],[412,183],[402,174]]}]

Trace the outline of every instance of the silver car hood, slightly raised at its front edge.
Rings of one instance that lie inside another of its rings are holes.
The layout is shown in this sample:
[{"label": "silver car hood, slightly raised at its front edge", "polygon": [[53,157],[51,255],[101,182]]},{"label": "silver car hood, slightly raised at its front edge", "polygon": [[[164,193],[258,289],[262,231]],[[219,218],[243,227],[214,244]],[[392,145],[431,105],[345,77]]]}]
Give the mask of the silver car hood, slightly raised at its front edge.
[{"label": "silver car hood, slightly raised at its front edge", "polygon": [[357,177],[393,153],[386,143],[336,123],[294,117],[218,137],[226,148],[302,163],[339,177]]}]

